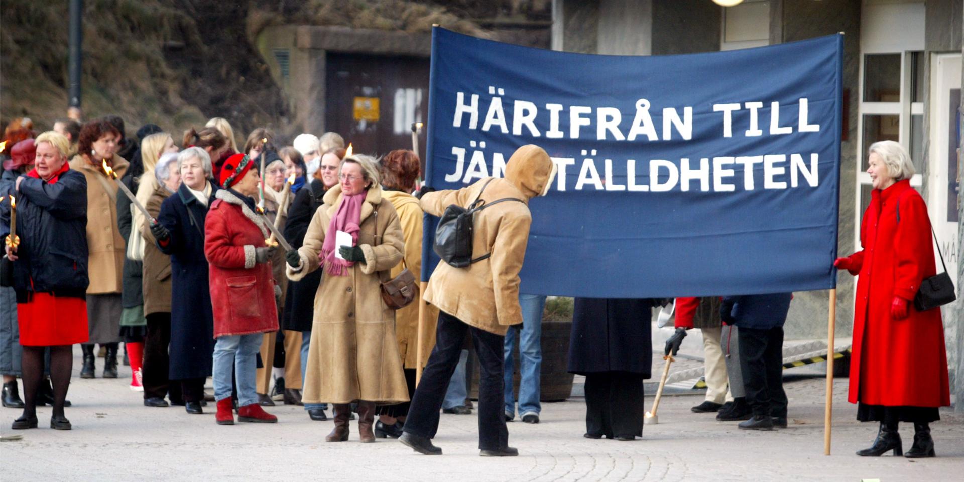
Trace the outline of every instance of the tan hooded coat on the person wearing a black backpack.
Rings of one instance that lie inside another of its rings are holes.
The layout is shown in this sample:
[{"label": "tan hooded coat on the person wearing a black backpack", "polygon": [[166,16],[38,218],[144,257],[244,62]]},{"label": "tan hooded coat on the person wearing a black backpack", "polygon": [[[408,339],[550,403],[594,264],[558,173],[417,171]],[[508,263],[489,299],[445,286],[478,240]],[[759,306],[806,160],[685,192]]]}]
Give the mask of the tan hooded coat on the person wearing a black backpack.
[{"label": "tan hooded coat on the person wearing a black backpack", "polygon": [[[522,146],[506,163],[505,178],[493,179],[482,192],[492,202],[514,198],[475,214],[472,258],[492,255],[466,268],[439,261],[423,299],[469,326],[505,335],[509,326],[522,324],[519,307],[519,270],[528,243],[532,217],[528,201],[539,196],[550,181],[552,161],[542,147]],[[422,196],[422,209],[441,216],[450,204],[469,206],[479,197],[482,179],[457,191],[437,191]]]}]

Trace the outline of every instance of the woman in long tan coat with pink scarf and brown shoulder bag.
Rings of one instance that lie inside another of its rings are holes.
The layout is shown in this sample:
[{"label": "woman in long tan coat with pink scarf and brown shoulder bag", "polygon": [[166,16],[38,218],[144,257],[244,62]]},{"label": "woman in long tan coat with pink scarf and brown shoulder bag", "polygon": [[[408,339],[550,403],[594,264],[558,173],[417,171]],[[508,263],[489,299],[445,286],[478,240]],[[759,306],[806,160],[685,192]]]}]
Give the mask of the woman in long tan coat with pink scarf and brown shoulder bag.
[{"label": "woman in long tan coat with pink scarf and brown shoulder bag", "polygon": [[[405,241],[395,208],[382,197],[374,159],[345,157],[339,178],[314,212],[305,243],[286,254],[292,281],[325,270],[314,304],[302,400],[306,406],[334,403],[335,430],[326,442],[348,440],[350,404],[358,401],[359,439],[375,442],[375,402],[409,400],[395,311],[382,301],[381,290],[381,281],[402,260]],[[336,231],[347,233],[351,245],[338,246]]]}]

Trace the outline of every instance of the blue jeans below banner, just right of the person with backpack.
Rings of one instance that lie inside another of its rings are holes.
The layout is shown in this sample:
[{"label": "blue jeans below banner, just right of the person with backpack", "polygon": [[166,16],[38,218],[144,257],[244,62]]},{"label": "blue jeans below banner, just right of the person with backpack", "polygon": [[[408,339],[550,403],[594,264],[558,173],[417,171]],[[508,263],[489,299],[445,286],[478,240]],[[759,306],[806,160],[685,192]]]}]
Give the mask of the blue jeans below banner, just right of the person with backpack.
[{"label": "blue jeans below banner, just right of the person with backpack", "polygon": [[[522,330],[519,332],[519,415],[542,411],[539,403],[540,371],[542,370],[542,315],[546,308],[546,295],[519,295],[522,307]],[[505,334],[505,414],[516,414],[516,398],[512,387],[514,368],[512,350],[516,346],[516,331]]]}]

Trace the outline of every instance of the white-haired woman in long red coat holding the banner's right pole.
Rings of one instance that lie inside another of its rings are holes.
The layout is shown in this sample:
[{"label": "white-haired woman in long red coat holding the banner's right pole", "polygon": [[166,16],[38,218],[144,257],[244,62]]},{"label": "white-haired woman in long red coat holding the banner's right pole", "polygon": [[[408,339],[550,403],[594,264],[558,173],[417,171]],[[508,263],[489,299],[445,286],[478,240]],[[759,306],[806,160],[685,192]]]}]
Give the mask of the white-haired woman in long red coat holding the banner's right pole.
[{"label": "white-haired woman in long red coat holding the banner's right pole", "polygon": [[897,422],[914,424],[905,457],[933,457],[929,423],[951,405],[948,357],[940,308],[918,311],[914,296],[934,276],[930,220],[907,151],[893,141],[870,145],[870,206],[860,229],[862,251],[834,261],[857,280],[848,400],[857,419],[880,422],[873,445],[857,452],[879,456],[902,451]]}]

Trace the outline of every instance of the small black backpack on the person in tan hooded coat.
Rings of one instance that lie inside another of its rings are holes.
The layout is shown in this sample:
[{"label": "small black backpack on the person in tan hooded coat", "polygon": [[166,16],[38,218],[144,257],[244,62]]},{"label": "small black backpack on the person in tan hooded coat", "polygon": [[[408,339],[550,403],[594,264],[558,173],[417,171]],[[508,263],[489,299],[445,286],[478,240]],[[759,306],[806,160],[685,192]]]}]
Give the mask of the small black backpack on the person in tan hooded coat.
[{"label": "small black backpack on the person in tan hooded coat", "polygon": [[522,202],[522,200],[515,198],[503,198],[488,204],[482,201],[482,191],[485,191],[486,186],[492,182],[492,179],[490,178],[482,185],[478,197],[469,204],[469,207],[451,204],[445,208],[442,218],[439,219],[439,226],[435,229],[435,253],[439,254],[446,263],[456,268],[464,268],[492,254],[486,253],[472,258],[472,224],[475,213],[502,201]]}]

